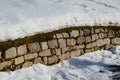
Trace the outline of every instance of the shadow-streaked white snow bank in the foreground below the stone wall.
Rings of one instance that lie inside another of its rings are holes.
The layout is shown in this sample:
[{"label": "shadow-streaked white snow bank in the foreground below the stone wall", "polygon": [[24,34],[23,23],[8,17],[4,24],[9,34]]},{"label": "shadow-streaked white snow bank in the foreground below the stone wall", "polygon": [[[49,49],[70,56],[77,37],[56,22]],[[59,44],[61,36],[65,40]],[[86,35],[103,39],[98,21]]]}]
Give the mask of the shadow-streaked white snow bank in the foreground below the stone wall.
[{"label": "shadow-streaked white snow bank in the foreground below the stone wall", "polygon": [[116,50],[113,49],[86,53],[54,66],[36,64],[13,72],[0,72],[0,80],[113,80],[120,76],[120,71],[112,71],[115,65],[120,65],[120,55],[112,53]]}]

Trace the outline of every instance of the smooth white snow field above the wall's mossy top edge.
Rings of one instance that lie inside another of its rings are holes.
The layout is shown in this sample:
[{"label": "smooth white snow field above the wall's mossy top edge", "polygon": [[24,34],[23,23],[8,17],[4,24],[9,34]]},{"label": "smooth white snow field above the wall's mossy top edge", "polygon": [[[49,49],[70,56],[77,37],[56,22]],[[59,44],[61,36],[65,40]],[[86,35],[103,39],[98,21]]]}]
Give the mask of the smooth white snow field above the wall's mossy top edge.
[{"label": "smooth white snow field above the wall's mossy top edge", "polygon": [[68,26],[120,25],[120,0],[0,0],[0,41]]}]

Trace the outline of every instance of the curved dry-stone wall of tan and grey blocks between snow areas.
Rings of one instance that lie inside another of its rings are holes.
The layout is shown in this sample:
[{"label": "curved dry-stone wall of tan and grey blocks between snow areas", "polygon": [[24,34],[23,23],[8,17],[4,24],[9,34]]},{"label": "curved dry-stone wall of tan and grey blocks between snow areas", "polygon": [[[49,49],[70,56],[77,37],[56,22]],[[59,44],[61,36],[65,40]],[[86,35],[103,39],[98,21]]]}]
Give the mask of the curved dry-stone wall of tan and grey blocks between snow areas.
[{"label": "curved dry-stone wall of tan and grey blocks between snow areas", "polygon": [[87,52],[119,45],[119,37],[119,28],[82,27],[66,30],[53,34],[52,39],[47,41],[36,41],[0,51],[0,70],[16,70],[37,63],[53,65]]}]

